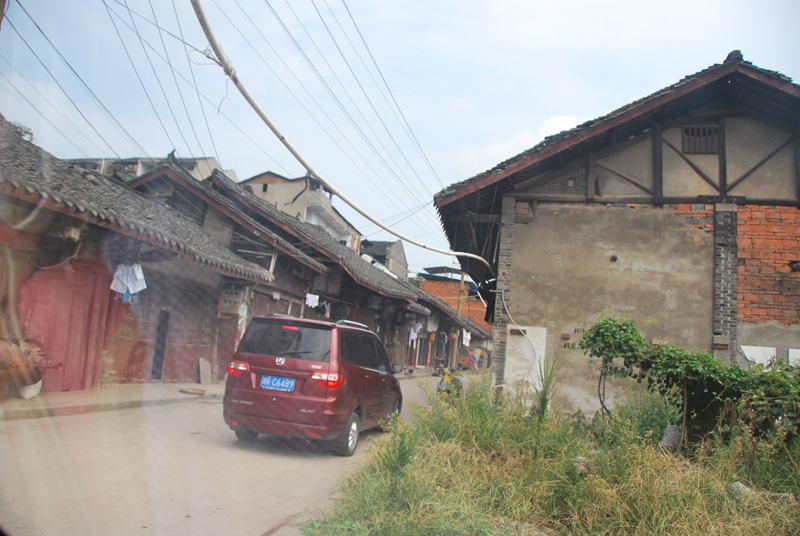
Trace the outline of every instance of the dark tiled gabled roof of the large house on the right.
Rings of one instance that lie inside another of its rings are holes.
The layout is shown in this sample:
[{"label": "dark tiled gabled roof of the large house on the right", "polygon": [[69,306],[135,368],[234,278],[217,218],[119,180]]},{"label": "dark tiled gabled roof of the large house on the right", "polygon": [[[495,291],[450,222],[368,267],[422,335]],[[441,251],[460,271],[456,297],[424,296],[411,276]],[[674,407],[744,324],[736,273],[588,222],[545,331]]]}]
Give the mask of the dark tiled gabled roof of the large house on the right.
[{"label": "dark tiled gabled roof of the large house on the right", "polygon": [[668,106],[686,106],[690,104],[689,99],[693,94],[701,94],[697,95],[701,98],[705,95],[705,90],[710,92],[711,86],[718,82],[727,82],[726,87],[716,89],[722,89],[728,98],[741,103],[755,102],[765,115],[777,121],[796,123],[800,120],[800,86],[793,84],[791,78],[777,71],[762,69],[744,61],[742,53],[734,50],[722,64],[715,64],[689,75],[671,86],[571,130],[548,136],[541,143],[492,169],[448,186],[436,194],[436,205],[449,205],[558,153],[587,145],[625,123],[647,118],[662,110],[666,112],[665,108]]}]

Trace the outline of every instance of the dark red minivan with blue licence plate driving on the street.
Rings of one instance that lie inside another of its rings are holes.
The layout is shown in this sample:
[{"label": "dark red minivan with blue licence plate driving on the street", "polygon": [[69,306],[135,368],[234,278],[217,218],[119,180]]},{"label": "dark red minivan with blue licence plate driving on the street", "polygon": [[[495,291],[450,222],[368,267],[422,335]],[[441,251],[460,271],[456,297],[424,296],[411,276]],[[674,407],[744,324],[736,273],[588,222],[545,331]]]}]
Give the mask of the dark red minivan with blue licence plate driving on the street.
[{"label": "dark red minivan with blue licence plate driving on the street", "polygon": [[223,416],[240,441],[305,437],[352,456],[360,430],[400,411],[400,370],[364,324],[256,317],[228,368]]}]

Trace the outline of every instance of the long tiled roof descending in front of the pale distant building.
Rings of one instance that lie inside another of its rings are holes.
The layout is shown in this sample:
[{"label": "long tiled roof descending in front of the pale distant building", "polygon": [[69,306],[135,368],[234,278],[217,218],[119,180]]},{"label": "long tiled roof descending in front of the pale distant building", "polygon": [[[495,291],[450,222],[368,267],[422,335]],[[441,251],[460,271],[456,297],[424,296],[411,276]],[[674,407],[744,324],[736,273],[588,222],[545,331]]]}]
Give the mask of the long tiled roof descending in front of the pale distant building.
[{"label": "long tiled roof descending in front of the pale distant building", "polygon": [[302,222],[281,212],[275,206],[253,194],[249,189],[231,181],[222,173],[214,172],[211,176],[211,181],[229,192],[235,200],[262,213],[286,232],[296,236],[332,261],[340,264],[359,284],[384,296],[411,301],[417,299],[418,293],[416,291],[418,289],[416,287],[407,283],[404,284],[405,282],[394,279],[375,268],[354,251],[336,241],[321,227]]}]

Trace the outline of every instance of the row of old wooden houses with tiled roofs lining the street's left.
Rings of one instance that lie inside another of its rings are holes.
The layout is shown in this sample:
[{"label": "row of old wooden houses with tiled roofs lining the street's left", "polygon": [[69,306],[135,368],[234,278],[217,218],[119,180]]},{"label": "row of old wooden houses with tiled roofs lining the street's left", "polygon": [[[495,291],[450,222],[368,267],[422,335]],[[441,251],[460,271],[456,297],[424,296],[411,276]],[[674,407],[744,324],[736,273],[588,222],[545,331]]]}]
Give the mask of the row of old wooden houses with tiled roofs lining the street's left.
[{"label": "row of old wooden houses with tiled roofs lining the street's left", "polygon": [[248,320],[269,313],[362,322],[405,366],[430,350],[417,335],[431,317],[488,336],[218,168],[125,162],[59,160],[0,118],[0,339],[42,348],[45,391],[221,381]]}]

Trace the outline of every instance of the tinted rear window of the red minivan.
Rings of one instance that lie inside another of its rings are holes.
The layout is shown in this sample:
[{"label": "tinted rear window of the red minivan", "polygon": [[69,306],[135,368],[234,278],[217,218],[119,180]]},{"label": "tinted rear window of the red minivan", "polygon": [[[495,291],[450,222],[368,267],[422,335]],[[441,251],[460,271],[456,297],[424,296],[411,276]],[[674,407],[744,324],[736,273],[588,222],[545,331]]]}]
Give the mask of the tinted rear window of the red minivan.
[{"label": "tinted rear window of the red minivan", "polygon": [[331,330],[254,320],[242,341],[240,351],[307,361],[327,361],[331,353]]}]

